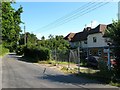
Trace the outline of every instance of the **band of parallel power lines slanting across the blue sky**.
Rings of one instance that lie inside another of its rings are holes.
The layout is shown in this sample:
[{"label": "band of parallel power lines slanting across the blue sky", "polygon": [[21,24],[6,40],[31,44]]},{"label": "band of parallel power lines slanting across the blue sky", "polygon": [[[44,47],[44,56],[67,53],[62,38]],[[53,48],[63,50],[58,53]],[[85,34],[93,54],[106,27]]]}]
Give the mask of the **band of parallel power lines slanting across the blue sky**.
[{"label": "band of parallel power lines slanting across the blue sky", "polygon": [[[109,2],[106,2],[106,3],[99,2],[99,3],[96,4],[95,2],[93,2],[93,3],[89,2],[89,3],[85,4],[85,5],[83,5],[82,7],[78,8],[77,10],[73,11],[72,13],[67,14],[66,16],[63,16],[63,17],[57,19],[56,21],[54,21],[54,22],[52,22],[52,23],[50,23],[50,24],[48,24],[48,25],[46,25],[46,26],[44,26],[44,27],[42,27],[40,29],[44,30],[44,31],[45,30],[47,31],[47,29],[50,30],[52,28],[56,28],[56,27],[58,27],[60,25],[63,25],[65,23],[69,22],[69,21],[72,21],[72,20],[74,20],[74,19],[76,19],[76,18],[78,18],[80,16],[83,16],[83,15],[85,15],[85,14],[87,14],[87,13],[89,13],[89,12],[91,12],[91,11],[97,9],[97,8],[100,8],[100,7],[102,7],[102,6],[104,6],[104,5],[108,4],[108,3]],[[88,6],[88,7],[86,7],[86,6]]]}]

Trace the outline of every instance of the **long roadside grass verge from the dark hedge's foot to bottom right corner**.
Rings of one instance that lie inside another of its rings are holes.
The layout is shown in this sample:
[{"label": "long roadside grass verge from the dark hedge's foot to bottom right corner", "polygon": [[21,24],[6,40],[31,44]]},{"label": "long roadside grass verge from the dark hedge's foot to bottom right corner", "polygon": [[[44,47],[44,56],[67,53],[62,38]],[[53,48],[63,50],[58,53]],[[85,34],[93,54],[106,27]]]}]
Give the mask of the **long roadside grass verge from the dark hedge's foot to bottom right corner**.
[{"label": "long roadside grass verge from the dark hedge's foot to bottom right corner", "polygon": [[[48,61],[39,61],[40,64],[50,64],[55,66],[56,64],[63,65],[61,70],[66,74],[74,74],[76,76],[80,76],[83,78],[97,80],[105,84],[113,85],[120,87],[120,82],[113,82],[111,76],[113,72],[106,70],[105,67],[102,70],[95,70],[91,68],[80,68],[80,73],[78,73],[78,68],[69,68],[67,67],[68,62],[60,62],[55,60],[48,60]],[[70,63],[73,64],[73,63]],[[85,64],[83,64],[84,66]],[[103,65],[102,65],[103,66]]]}]

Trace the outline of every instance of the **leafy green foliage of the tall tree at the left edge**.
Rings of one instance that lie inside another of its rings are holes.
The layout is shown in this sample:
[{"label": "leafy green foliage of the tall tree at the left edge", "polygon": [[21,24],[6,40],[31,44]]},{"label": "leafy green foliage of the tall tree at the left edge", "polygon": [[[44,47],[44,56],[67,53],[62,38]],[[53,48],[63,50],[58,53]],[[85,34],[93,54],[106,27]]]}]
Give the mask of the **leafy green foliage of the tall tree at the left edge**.
[{"label": "leafy green foliage of the tall tree at the left edge", "polygon": [[2,40],[3,45],[14,51],[17,47],[19,34],[21,32],[20,15],[23,12],[22,7],[15,10],[11,6],[11,2],[2,2]]}]

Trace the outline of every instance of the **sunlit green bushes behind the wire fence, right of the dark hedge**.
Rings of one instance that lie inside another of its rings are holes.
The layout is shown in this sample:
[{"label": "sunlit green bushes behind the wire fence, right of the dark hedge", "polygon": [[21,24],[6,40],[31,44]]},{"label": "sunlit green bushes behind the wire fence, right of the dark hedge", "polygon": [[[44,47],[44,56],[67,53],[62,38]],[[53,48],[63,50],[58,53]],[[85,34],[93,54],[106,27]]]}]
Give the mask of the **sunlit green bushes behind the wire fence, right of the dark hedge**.
[{"label": "sunlit green bushes behind the wire fence, right of the dark hedge", "polygon": [[[64,40],[64,37],[61,36],[53,36],[49,35],[49,39],[42,37],[41,40],[37,42],[37,46],[49,48],[51,51],[51,59],[52,60],[59,60],[59,61],[66,61],[68,60],[69,55],[69,43]],[[57,58],[55,58],[55,55]]]}]

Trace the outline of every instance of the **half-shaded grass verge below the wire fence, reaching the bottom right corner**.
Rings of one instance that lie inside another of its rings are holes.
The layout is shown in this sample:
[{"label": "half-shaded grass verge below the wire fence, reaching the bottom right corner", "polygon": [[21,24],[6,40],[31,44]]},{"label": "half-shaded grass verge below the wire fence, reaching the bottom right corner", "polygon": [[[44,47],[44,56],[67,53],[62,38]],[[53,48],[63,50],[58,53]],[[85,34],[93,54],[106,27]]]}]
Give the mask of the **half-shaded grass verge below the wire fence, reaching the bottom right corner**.
[{"label": "half-shaded grass verge below the wire fence, reaching the bottom right corner", "polygon": [[100,72],[99,70],[87,68],[87,69],[80,69],[80,73],[78,73],[78,68],[68,69],[67,67],[63,67],[61,70],[64,73],[74,74],[77,77],[96,80],[96,81],[102,82],[103,84],[109,84],[112,86],[120,87],[120,82],[119,81],[113,82],[110,77],[110,73],[108,72],[103,74],[103,72]]}]

